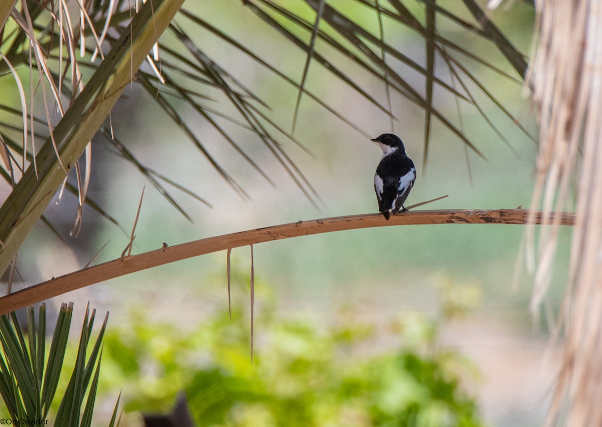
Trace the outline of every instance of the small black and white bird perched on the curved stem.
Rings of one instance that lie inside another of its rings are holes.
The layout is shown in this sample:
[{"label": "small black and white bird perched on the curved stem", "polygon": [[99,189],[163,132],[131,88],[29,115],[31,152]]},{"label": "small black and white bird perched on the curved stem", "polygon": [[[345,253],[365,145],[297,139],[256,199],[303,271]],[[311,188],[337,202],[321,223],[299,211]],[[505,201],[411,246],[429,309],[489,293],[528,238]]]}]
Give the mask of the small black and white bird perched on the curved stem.
[{"label": "small black and white bird perched on the curved stem", "polygon": [[389,220],[389,210],[395,215],[403,206],[416,180],[414,162],[406,154],[406,148],[398,136],[383,133],[371,139],[382,149],[382,157],[374,175],[374,191],[378,200],[379,212]]}]

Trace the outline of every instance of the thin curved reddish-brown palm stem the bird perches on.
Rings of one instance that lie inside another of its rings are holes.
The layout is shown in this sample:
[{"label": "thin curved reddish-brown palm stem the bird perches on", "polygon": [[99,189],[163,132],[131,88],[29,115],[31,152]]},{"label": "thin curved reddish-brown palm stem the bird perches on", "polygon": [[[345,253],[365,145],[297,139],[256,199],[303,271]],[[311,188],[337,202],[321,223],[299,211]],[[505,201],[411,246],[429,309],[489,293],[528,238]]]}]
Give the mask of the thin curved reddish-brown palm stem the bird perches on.
[{"label": "thin curved reddish-brown palm stem the bird perches on", "polygon": [[84,268],[84,270],[75,271],[75,273],[66,274],[2,297],[0,298],[0,314],[136,271],[262,242],[341,230],[410,224],[527,224],[527,220],[530,218],[533,218],[533,224],[559,223],[563,226],[573,226],[576,217],[568,212],[544,214],[528,209],[412,210],[406,211],[404,214],[393,215],[390,221],[383,220],[380,214],[351,215],[298,221],[297,223],[200,239],[175,246],[168,246],[164,243],[163,247],[157,250],[125,256],[104,264]]}]

